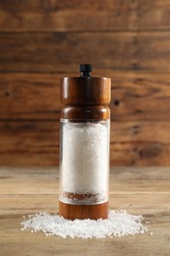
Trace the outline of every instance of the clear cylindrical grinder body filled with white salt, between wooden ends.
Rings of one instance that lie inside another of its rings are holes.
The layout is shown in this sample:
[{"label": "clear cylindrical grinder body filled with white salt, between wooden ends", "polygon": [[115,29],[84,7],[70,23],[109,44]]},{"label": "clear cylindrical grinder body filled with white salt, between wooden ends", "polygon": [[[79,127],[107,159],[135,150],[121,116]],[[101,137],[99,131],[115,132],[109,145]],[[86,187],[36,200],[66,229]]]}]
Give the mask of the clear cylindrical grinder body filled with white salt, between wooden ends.
[{"label": "clear cylindrical grinder body filled with white salt, between wooden ends", "polygon": [[110,120],[61,119],[59,200],[66,204],[108,202]]}]

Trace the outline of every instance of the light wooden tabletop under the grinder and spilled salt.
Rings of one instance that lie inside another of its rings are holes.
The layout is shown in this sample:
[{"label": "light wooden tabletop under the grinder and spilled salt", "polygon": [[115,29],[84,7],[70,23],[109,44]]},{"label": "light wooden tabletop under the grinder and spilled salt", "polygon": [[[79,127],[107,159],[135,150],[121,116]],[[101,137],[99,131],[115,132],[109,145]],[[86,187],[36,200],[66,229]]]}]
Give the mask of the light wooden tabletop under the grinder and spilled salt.
[{"label": "light wooden tabletop under the grinder and spilled salt", "polygon": [[170,167],[114,167],[110,208],[143,215],[148,233],[105,239],[21,230],[23,216],[58,211],[57,168],[0,168],[0,256],[170,255]]}]

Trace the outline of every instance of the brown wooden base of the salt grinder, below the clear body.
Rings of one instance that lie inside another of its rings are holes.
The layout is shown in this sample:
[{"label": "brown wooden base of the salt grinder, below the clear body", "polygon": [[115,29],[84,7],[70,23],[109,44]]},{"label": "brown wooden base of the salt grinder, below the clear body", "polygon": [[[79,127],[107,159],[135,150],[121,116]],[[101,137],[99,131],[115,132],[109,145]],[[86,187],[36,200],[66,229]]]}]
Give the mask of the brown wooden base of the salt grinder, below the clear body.
[{"label": "brown wooden base of the salt grinder, below the clear body", "polygon": [[108,205],[108,202],[98,205],[71,205],[59,201],[59,216],[71,221],[107,219]]}]

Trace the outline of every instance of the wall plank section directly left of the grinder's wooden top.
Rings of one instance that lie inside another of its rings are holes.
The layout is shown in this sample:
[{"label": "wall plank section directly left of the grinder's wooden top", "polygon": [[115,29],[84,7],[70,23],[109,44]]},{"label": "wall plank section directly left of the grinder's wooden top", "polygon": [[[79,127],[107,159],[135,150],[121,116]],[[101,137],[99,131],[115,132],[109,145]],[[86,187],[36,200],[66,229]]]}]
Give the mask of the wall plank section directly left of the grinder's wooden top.
[{"label": "wall plank section directly left of the grinder's wooden top", "polygon": [[0,119],[59,120],[60,76],[0,74]]}]

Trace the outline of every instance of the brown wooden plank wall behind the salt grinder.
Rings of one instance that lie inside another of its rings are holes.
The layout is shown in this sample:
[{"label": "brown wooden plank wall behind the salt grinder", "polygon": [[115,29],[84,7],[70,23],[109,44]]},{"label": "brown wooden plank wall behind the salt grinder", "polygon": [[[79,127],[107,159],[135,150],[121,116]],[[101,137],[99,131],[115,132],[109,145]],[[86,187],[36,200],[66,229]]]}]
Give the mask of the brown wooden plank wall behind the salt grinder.
[{"label": "brown wooden plank wall behind the salt grinder", "polygon": [[0,164],[58,164],[80,63],[112,78],[111,164],[169,165],[169,0],[0,0]]}]

